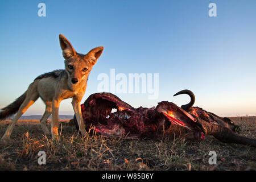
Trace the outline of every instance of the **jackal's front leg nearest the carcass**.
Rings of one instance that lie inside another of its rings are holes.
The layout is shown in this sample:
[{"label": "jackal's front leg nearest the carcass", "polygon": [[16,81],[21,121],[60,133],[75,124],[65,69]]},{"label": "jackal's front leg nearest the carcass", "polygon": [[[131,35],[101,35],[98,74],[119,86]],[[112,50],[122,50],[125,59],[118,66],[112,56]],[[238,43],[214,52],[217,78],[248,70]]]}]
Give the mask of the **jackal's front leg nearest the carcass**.
[{"label": "jackal's front leg nearest the carcass", "polygon": [[82,111],[81,111],[80,101],[81,100],[79,100],[78,98],[73,98],[72,106],[75,111],[77,123],[79,125],[79,131],[81,131],[82,135],[85,135],[87,132],[85,130],[84,119],[82,119]]}]

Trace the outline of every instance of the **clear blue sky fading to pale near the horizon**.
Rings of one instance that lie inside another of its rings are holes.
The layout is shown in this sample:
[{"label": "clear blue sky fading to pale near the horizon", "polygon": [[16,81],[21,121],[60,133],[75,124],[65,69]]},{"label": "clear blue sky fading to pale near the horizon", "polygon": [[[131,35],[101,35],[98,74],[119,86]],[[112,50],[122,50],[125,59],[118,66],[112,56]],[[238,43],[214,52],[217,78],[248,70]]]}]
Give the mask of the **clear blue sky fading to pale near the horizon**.
[{"label": "clear blue sky fading to pale near the horizon", "polygon": [[[38,4],[46,4],[46,17]],[[209,17],[209,3],[217,17]],[[130,105],[187,104],[222,116],[256,115],[256,1],[1,1],[0,107],[18,98],[44,72],[64,68],[59,34],[77,52],[104,46],[89,76],[86,98],[100,73],[159,73],[159,98],[117,94]],[[73,114],[71,100],[60,114]],[[38,100],[25,115],[43,114]]]}]

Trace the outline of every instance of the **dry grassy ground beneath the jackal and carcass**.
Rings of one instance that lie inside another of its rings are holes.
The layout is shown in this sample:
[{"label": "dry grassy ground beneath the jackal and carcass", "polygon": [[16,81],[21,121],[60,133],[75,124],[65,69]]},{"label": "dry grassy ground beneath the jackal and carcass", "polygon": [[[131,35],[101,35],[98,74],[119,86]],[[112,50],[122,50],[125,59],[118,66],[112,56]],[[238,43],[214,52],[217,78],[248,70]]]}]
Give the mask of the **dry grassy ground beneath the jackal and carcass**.
[{"label": "dry grassy ground beneath the jackal and carcass", "polygon": [[[241,135],[256,138],[256,117],[232,118]],[[0,135],[6,122],[0,124]],[[36,124],[37,123],[37,124]],[[0,141],[0,170],[255,170],[256,148],[226,144],[213,137],[202,142],[170,139],[81,138],[72,123],[61,122],[59,142],[43,135],[39,121],[21,121],[10,140]],[[46,165],[38,152],[46,152]],[[216,151],[217,165],[208,163]]]}]

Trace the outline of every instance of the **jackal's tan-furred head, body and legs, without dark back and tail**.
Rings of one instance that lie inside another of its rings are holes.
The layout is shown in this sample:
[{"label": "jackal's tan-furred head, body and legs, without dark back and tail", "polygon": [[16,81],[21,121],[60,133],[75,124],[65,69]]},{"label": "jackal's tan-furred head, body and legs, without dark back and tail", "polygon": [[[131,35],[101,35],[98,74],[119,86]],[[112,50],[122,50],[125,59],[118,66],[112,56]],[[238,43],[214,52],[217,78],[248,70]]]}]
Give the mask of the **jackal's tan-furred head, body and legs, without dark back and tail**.
[{"label": "jackal's tan-furred head, body and legs, without dark back and tail", "polygon": [[[18,113],[11,121],[2,139],[10,138],[15,123],[39,97],[46,104],[46,110],[40,120],[45,134],[49,134],[46,123],[49,115],[52,114],[51,134],[53,139],[58,138],[59,106],[60,102],[67,98],[73,98],[72,106],[79,121],[79,130],[82,134],[86,134],[84,122],[82,121],[80,101],[86,90],[89,73],[97,59],[101,56],[104,47],[94,48],[86,55],[82,55],[75,51],[71,43],[63,35],[60,34],[59,39],[65,59],[65,72],[67,74],[57,78],[49,76],[35,79],[28,87],[26,98],[22,105],[20,105]],[[84,68],[87,70],[83,70]],[[73,84],[72,78],[77,78],[78,82]]]}]

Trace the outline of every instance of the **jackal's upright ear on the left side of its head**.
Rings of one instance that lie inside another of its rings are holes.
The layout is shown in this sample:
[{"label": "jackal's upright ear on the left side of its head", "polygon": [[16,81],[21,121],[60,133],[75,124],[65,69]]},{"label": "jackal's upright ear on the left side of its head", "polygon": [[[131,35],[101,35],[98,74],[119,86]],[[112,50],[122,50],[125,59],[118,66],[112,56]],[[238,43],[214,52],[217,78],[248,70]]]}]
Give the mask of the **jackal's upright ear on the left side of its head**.
[{"label": "jackal's upright ear on the left side of its head", "polygon": [[64,35],[59,35],[60,38],[60,47],[62,49],[62,55],[64,59],[68,59],[76,54],[75,49],[72,47],[71,43],[65,38]]}]

